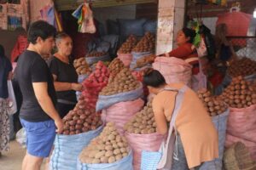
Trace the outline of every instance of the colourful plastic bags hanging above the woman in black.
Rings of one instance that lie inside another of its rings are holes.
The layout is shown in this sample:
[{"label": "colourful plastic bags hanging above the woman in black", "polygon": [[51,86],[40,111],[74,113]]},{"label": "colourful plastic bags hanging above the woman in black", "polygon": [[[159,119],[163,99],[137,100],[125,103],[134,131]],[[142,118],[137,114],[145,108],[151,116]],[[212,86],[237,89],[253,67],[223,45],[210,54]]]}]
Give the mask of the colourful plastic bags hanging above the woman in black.
[{"label": "colourful plastic bags hanging above the woman in black", "polygon": [[91,34],[96,32],[96,26],[93,21],[93,14],[89,3],[81,4],[72,15],[78,19],[79,32]]}]

